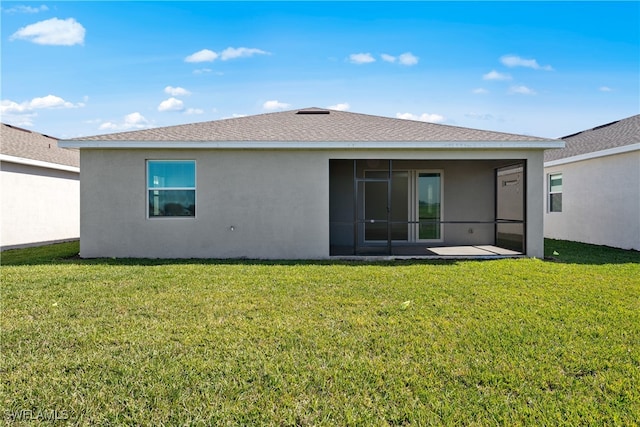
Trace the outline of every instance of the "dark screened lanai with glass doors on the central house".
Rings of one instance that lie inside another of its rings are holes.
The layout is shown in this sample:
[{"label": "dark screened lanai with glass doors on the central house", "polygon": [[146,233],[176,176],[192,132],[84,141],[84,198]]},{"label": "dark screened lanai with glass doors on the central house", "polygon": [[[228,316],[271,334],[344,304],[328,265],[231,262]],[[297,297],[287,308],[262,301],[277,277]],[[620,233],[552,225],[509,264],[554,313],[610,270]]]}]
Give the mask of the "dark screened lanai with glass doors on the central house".
[{"label": "dark screened lanai with glass doors on the central house", "polygon": [[526,161],[332,159],[331,256],[517,256]]}]

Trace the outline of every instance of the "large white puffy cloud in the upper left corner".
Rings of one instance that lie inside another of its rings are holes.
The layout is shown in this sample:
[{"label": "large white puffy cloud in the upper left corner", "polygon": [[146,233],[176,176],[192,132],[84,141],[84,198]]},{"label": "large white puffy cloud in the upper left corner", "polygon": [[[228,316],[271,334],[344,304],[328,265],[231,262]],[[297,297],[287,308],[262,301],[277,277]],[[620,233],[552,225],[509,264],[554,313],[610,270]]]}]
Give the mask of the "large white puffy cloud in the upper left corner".
[{"label": "large white puffy cloud in the upper left corner", "polygon": [[73,46],[84,44],[85,32],[84,27],[73,18],[51,18],[20,28],[9,40],[22,39],[42,45]]}]

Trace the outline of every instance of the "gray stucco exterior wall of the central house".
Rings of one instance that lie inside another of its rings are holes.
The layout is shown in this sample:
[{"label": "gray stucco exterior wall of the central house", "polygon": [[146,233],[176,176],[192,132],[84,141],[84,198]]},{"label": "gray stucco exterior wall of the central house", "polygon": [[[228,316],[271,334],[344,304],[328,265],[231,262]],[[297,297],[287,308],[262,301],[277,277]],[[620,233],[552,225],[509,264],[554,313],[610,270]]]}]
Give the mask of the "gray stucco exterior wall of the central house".
[{"label": "gray stucco exterior wall of the central house", "polygon": [[[329,257],[329,159],[528,161],[527,254],[542,251],[540,150],[83,149],[82,257]],[[147,218],[146,160],[196,161],[196,217]],[[446,172],[445,172],[446,173]],[[446,175],[445,175],[446,179]],[[469,176],[469,182],[473,179]],[[445,184],[446,185],[446,184]],[[492,186],[493,184],[490,184]],[[479,196],[464,185],[469,200]],[[448,196],[445,195],[445,203]],[[445,207],[456,212],[455,203]],[[537,206],[536,206],[536,203]],[[460,215],[476,217],[470,209]]]}]

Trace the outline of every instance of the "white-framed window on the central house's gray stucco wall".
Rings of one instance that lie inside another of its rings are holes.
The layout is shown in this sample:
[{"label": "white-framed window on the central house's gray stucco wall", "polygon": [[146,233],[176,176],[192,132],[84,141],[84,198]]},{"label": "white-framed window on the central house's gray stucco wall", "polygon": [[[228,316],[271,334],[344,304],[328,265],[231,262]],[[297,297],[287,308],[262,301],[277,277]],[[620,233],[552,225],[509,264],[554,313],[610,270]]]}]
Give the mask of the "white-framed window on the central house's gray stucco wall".
[{"label": "white-framed window on the central house's gray stucco wall", "polygon": [[148,160],[149,218],[195,217],[195,160]]}]

